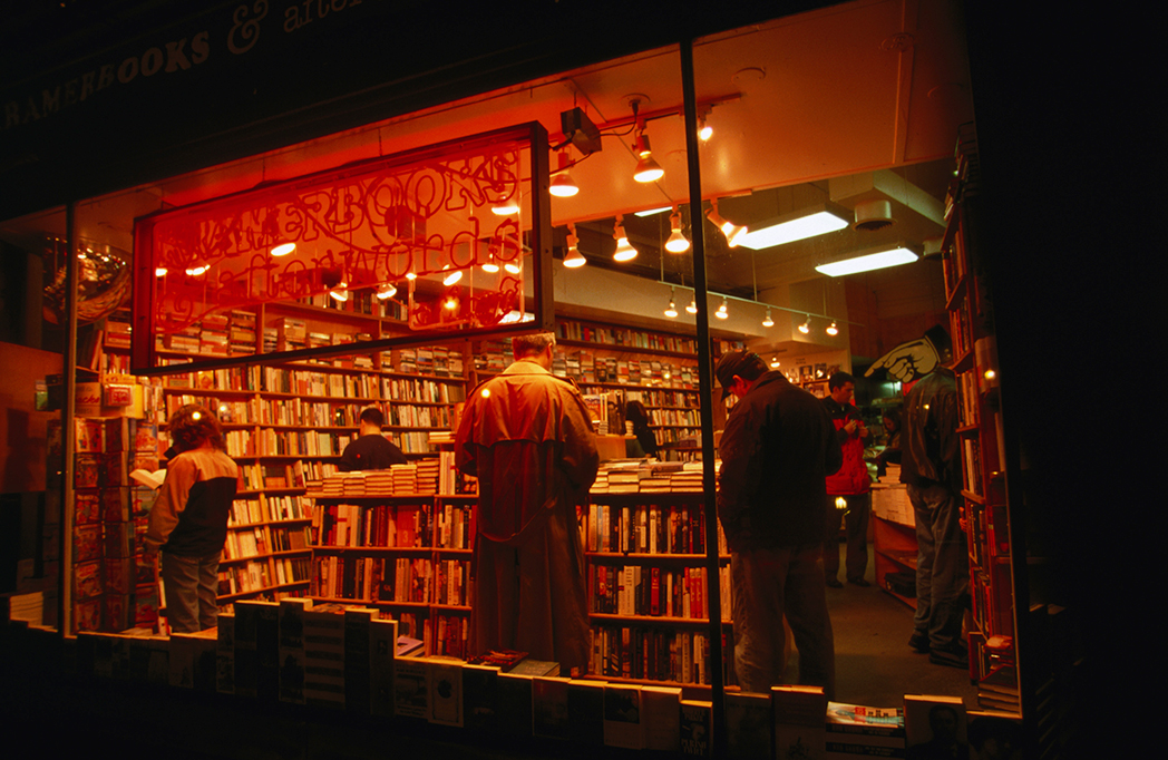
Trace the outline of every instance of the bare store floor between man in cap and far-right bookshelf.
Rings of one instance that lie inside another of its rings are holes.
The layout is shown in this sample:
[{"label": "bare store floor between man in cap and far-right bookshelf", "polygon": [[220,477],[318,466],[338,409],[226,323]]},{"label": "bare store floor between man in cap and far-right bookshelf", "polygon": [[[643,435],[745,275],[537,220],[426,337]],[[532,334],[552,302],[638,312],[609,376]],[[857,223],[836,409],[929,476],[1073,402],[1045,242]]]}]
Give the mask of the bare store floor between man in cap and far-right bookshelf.
[{"label": "bare store floor between man in cap and far-right bookshelf", "polygon": [[[843,574],[841,545],[840,574]],[[909,648],[913,611],[890,593],[876,587],[871,546],[868,548],[868,587],[843,584],[827,590],[827,607],[835,637],[836,702],[871,707],[899,706],[906,693],[961,697],[965,706],[978,707],[978,690],[969,671],[929,662]],[[788,676],[798,672],[795,656]]]}]

